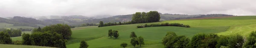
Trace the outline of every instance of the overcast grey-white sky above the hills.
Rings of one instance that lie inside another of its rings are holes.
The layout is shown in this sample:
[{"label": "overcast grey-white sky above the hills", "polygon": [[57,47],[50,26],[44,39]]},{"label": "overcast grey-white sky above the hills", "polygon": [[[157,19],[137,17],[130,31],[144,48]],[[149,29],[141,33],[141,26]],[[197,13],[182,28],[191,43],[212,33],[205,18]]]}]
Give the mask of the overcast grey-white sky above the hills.
[{"label": "overcast grey-white sky above the hills", "polygon": [[125,15],[135,12],[256,15],[256,0],[1,0],[0,17]]}]

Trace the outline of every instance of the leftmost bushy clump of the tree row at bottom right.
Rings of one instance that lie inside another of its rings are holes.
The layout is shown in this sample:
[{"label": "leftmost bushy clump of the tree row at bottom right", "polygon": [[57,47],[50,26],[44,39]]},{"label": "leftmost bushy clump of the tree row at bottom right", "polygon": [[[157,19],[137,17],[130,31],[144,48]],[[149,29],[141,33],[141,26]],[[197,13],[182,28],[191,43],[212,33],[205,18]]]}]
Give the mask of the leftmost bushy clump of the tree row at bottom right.
[{"label": "leftmost bushy clump of the tree row at bottom right", "polygon": [[167,32],[162,41],[162,44],[167,48],[186,48],[186,45],[189,43],[189,38],[177,36],[174,32]]}]

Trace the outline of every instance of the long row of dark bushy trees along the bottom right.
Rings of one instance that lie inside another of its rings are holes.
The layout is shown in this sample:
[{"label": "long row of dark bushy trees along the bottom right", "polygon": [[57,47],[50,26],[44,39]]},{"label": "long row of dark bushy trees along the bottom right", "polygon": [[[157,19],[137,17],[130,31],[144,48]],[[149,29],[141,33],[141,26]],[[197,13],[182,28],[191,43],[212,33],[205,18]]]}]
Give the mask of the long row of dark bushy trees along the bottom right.
[{"label": "long row of dark bushy trees along the bottom right", "polygon": [[174,32],[167,32],[162,44],[166,48],[256,48],[254,35],[256,32],[252,32],[248,37],[251,39],[244,43],[244,37],[241,35],[197,34],[189,40],[185,36],[177,36]]}]

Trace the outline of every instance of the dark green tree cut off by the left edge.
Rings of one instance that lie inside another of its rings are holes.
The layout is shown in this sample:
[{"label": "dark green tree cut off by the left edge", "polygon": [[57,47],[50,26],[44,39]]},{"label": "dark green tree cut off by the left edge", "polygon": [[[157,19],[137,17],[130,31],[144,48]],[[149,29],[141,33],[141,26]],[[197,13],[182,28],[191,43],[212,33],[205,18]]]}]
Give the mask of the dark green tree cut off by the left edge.
[{"label": "dark green tree cut off by the left edge", "polygon": [[7,32],[0,32],[0,44],[12,44],[12,39]]}]

